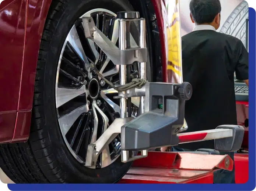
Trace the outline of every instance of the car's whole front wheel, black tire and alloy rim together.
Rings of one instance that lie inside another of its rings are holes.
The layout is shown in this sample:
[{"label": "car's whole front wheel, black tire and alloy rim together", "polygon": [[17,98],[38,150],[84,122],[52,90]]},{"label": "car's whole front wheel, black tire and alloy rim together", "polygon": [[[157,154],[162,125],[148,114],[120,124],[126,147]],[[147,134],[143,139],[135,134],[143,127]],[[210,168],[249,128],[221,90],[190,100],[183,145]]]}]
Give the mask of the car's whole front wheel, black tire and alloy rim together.
[{"label": "car's whole front wheel, black tire and alloy rim together", "polygon": [[[120,136],[105,148],[95,169],[84,166],[88,144],[120,117],[120,107],[115,91],[90,72],[90,63],[112,83],[119,82],[119,67],[85,38],[81,20],[92,16],[116,43],[116,12],[128,10],[133,7],[126,0],[52,1],[38,56],[29,140],[0,145],[0,167],[15,183],[115,183],[130,168],[131,162],[120,159]],[[138,41],[136,25],[131,36]],[[137,63],[131,73],[137,75]],[[133,115],[137,110],[134,101]]]}]

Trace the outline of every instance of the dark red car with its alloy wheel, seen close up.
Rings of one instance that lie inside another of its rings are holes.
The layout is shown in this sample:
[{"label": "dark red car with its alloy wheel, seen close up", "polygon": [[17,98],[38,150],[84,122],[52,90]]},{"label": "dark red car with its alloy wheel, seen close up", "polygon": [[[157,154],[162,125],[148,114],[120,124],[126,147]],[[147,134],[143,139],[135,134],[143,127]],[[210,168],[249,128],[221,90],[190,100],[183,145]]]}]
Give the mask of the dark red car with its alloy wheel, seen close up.
[{"label": "dark red car with its alloy wheel, seen close up", "polygon": [[[166,7],[164,0],[0,2],[0,168],[11,180],[113,183],[122,178],[131,162],[121,162],[120,137],[101,154],[95,169],[84,166],[94,126],[98,137],[105,119],[111,124],[120,117],[120,107],[108,84],[89,72],[95,63],[118,83],[119,67],[85,38],[81,18],[92,16],[116,43],[116,13],[139,11],[146,20],[147,80],[166,81]],[[134,25],[131,34],[137,42],[136,30]],[[131,73],[138,75],[136,63]],[[137,109],[133,103],[134,115]]]}]

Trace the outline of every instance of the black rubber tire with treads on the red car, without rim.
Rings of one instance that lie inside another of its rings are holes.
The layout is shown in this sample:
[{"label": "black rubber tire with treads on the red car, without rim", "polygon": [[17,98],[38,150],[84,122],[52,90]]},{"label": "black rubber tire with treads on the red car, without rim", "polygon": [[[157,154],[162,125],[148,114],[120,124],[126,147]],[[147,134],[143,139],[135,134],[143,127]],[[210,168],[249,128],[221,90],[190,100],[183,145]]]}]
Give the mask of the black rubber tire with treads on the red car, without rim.
[{"label": "black rubber tire with treads on the red car, without rim", "polygon": [[57,121],[55,75],[63,42],[76,19],[94,8],[133,10],[127,0],[52,1],[39,49],[29,139],[0,145],[0,167],[14,183],[115,183],[131,166],[119,157],[105,168],[85,167],[71,155]]}]

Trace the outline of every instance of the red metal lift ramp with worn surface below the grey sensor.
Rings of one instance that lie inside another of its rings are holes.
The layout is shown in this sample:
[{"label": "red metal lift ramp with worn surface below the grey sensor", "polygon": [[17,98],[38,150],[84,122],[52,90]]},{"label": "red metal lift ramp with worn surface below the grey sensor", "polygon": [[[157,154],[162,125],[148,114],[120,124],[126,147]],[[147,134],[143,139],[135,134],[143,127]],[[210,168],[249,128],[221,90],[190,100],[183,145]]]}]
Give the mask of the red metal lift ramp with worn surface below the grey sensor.
[{"label": "red metal lift ramp with worn surface below the grey sensor", "polygon": [[213,172],[232,170],[234,162],[228,155],[197,153],[148,152],[137,159],[119,183],[213,183]]}]

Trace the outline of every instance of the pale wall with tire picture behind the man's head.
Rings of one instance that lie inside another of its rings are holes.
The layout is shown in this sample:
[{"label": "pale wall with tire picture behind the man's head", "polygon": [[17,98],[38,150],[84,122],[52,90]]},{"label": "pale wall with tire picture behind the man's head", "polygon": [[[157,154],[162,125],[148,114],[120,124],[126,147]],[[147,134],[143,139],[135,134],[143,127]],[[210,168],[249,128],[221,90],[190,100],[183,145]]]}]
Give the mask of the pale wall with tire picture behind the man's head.
[{"label": "pale wall with tire picture behind the man's head", "polygon": [[[181,36],[190,33],[194,24],[190,20],[190,0],[180,1]],[[248,19],[248,0],[220,0],[221,24],[218,32],[239,38],[246,45],[246,19]]]}]

